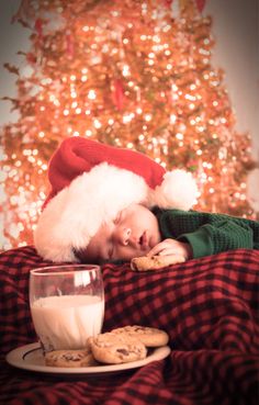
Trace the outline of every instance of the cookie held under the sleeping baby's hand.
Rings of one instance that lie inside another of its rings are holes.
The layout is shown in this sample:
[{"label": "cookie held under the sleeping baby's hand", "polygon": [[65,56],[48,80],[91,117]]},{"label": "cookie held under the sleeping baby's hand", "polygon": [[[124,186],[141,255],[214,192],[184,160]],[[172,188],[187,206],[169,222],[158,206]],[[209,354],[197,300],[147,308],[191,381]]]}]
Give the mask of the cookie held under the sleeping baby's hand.
[{"label": "cookie held under the sleeping baby's hand", "polygon": [[135,257],[131,261],[131,268],[135,271],[148,271],[158,270],[162,267],[183,263],[185,261],[183,256],[179,255],[168,255],[168,256],[142,256]]}]

